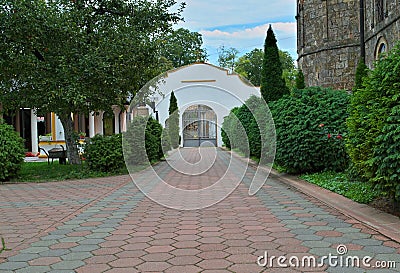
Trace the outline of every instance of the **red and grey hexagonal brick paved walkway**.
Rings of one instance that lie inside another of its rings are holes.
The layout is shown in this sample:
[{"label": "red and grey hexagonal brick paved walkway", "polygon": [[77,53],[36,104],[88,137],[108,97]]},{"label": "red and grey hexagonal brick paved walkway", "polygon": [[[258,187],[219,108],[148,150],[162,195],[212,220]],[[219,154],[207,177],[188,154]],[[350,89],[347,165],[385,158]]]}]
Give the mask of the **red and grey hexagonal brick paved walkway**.
[{"label": "red and grey hexagonal brick paved walkway", "polygon": [[[196,163],[196,149],[184,150]],[[166,162],[155,169],[171,185],[198,189],[216,182],[229,161],[229,153],[218,151],[200,176],[179,174]],[[0,185],[0,237],[11,249],[0,254],[0,272],[399,272],[399,243],[274,179],[249,196],[253,176],[249,168],[229,197],[201,210],[161,206],[129,176]],[[232,170],[229,177],[241,178]],[[338,255],[339,245],[348,252]],[[259,257],[266,252],[268,261],[285,256],[284,264],[305,256],[319,262],[331,253],[344,261],[371,256],[371,265],[393,261],[397,268],[334,267],[328,260],[317,268],[282,268],[277,259],[273,268],[261,267],[257,260],[265,262]]]}]

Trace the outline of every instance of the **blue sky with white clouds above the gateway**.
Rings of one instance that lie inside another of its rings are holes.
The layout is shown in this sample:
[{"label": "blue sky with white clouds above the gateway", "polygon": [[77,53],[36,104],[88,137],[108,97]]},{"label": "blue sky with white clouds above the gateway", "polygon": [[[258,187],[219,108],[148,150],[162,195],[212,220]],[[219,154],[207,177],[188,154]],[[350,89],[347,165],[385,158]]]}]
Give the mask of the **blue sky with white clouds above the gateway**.
[{"label": "blue sky with white clouds above the gateway", "polygon": [[203,36],[208,62],[218,65],[218,48],[236,48],[239,56],[263,48],[269,24],[278,47],[297,58],[295,0],[178,0],[186,2],[177,27]]}]

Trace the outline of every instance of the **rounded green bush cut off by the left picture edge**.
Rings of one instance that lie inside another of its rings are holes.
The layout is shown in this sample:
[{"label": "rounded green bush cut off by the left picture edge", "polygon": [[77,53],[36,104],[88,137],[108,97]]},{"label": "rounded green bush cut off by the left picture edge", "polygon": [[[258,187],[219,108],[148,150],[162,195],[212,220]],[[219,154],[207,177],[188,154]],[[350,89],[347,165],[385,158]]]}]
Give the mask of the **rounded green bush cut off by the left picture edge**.
[{"label": "rounded green bush cut off by the left picture edge", "polygon": [[16,176],[24,157],[24,140],[0,119],[0,181]]}]

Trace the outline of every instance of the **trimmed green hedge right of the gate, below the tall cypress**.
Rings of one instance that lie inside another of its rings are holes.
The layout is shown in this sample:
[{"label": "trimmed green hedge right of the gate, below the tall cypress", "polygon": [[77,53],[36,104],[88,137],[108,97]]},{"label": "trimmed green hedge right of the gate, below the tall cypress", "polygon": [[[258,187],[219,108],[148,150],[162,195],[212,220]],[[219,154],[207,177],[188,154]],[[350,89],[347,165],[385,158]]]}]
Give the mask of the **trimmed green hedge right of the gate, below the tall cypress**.
[{"label": "trimmed green hedge right of the gate, below the tall cypress", "polygon": [[[345,91],[314,87],[295,90],[292,95],[269,103],[276,129],[275,162],[290,173],[346,169],[344,137],[348,101]],[[274,125],[268,124],[260,98],[251,97],[246,105],[233,109],[225,117],[222,140],[227,147],[238,148],[246,156],[259,158],[262,154],[270,162],[266,153],[274,146],[268,143],[262,151],[261,143],[274,139],[271,133]],[[249,108],[258,120],[264,121],[262,124],[256,123]],[[243,134],[248,138],[248,148]]]}]

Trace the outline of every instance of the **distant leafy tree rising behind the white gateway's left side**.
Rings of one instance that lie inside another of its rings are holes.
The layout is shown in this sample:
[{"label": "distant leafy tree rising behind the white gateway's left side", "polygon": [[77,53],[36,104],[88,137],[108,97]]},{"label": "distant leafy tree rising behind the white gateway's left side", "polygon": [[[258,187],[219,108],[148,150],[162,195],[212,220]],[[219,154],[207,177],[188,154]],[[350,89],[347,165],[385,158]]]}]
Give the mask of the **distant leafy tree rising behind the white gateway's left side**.
[{"label": "distant leafy tree rising behind the white gateway's left side", "polygon": [[188,29],[179,28],[165,38],[161,55],[172,62],[173,67],[180,67],[194,62],[204,62],[207,52],[202,35]]}]

